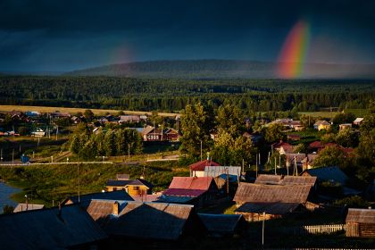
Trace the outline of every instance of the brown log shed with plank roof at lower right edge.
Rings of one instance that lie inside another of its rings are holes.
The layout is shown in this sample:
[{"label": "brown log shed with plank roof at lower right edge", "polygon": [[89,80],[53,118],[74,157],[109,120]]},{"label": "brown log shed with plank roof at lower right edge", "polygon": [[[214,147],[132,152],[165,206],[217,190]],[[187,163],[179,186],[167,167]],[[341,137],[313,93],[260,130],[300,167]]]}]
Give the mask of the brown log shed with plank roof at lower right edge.
[{"label": "brown log shed with plank roof at lower right edge", "polygon": [[346,237],[375,237],[375,209],[349,208]]}]

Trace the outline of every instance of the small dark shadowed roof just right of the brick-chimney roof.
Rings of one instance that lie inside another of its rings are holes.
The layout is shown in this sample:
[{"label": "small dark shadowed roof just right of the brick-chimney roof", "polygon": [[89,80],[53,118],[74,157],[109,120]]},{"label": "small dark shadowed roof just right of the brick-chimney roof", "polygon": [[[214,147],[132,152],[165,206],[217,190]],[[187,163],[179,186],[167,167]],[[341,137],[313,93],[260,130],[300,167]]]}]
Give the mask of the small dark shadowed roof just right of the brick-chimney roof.
[{"label": "small dark shadowed roof just right of the brick-chimney roof", "polygon": [[198,213],[204,226],[211,233],[233,233],[238,222],[244,220],[241,214]]}]

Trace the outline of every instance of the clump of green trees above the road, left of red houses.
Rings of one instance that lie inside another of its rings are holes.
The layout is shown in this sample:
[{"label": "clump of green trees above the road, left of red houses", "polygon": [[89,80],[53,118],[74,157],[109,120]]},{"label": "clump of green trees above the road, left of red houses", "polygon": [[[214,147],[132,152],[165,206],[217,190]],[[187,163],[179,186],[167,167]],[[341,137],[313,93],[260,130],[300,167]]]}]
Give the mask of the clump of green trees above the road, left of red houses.
[{"label": "clump of green trees above the road, left of red houses", "polygon": [[135,129],[98,129],[91,133],[80,123],[70,141],[71,153],[90,160],[101,156],[139,154],[142,137]]}]

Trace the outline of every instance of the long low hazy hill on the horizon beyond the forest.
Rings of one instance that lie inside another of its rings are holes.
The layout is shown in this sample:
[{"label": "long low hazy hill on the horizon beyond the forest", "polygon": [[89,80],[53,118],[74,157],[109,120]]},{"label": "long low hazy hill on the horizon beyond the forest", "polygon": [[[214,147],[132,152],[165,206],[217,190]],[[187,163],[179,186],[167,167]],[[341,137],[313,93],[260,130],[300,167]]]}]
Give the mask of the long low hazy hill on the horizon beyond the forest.
[{"label": "long low hazy hill on the horizon beyond the forest", "polygon": [[[71,71],[74,76],[122,76],[131,78],[275,79],[278,63],[241,60],[175,60],[112,64]],[[375,64],[307,63],[304,79],[374,79]]]}]

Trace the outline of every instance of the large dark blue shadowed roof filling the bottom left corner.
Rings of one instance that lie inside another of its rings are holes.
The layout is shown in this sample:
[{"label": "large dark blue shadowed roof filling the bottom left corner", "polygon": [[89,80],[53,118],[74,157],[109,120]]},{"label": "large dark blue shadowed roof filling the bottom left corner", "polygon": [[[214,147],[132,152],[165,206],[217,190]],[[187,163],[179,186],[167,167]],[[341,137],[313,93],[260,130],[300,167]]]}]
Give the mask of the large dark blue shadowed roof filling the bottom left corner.
[{"label": "large dark blue shadowed roof filling the bottom left corner", "polygon": [[57,249],[106,238],[78,205],[0,215],[2,249]]}]

